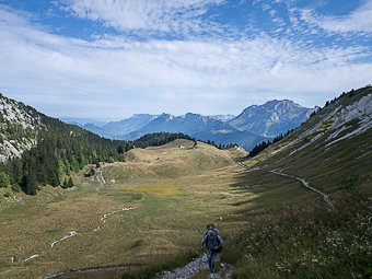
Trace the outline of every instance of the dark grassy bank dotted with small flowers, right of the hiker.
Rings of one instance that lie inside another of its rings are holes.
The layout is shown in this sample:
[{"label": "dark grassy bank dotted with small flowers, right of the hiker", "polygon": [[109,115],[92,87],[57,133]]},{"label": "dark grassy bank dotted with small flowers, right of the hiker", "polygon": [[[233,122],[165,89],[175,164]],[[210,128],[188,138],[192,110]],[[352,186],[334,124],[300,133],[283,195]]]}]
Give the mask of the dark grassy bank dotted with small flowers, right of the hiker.
[{"label": "dark grassy bank dotted with small flowers, right of the hiker", "polygon": [[334,211],[313,201],[257,217],[224,252],[233,278],[370,278],[372,202],[345,197]]}]

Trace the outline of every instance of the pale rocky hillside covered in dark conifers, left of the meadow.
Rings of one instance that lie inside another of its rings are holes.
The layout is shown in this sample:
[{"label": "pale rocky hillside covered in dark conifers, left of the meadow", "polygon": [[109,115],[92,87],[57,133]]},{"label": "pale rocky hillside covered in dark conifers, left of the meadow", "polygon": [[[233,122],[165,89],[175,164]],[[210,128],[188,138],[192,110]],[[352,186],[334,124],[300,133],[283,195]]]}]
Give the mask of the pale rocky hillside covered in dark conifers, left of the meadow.
[{"label": "pale rocky hillside covered in dark conifers, left of the meadow", "polygon": [[[101,138],[2,95],[0,107],[0,187],[7,196],[21,189],[36,195],[40,186],[67,187],[68,181],[72,186],[72,172],[88,164],[120,161],[133,147],[133,142]],[[159,144],[179,137],[185,136],[153,135],[139,144]]]}]

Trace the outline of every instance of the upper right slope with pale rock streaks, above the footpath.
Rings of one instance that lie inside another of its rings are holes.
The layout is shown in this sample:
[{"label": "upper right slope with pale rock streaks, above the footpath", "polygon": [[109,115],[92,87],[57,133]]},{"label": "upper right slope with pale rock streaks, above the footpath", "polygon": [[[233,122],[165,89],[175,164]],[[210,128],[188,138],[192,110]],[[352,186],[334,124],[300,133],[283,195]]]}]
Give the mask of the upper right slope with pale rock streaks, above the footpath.
[{"label": "upper right slope with pale rock streaks, above the footpath", "polygon": [[371,139],[372,88],[367,86],[328,102],[294,132],[246,164],[304,177],[334,193],[370,182]]}]

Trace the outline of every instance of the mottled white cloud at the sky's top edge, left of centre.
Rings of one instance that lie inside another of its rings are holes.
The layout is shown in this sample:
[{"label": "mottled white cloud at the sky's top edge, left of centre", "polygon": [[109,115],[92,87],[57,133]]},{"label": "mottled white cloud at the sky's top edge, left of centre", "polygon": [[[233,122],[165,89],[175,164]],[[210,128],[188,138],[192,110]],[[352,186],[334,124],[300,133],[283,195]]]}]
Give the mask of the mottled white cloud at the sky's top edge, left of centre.
[{"label": "mottled white cloud at the sky's top edge, left of centre", "polygon": [[61,10],[79,18],[101,21],[120,31],[189,32],[200,28],[198,18],[210,4],[223,0],[60,0]]}]

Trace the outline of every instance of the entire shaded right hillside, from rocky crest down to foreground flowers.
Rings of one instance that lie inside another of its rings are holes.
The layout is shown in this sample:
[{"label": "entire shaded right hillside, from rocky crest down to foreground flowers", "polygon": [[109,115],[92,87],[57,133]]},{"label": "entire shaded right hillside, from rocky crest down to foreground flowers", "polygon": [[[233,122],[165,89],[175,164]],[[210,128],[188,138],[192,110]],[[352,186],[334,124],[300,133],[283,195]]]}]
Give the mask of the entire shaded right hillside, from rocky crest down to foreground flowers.
[{"label": "entire shaded right hillside, from rocky crest down to foreground flowers", "polygon": [[[372,86],[342,93],[242,163],[233,278],[371,278]],[[243,228],[243,229],[242,229]]]}]

